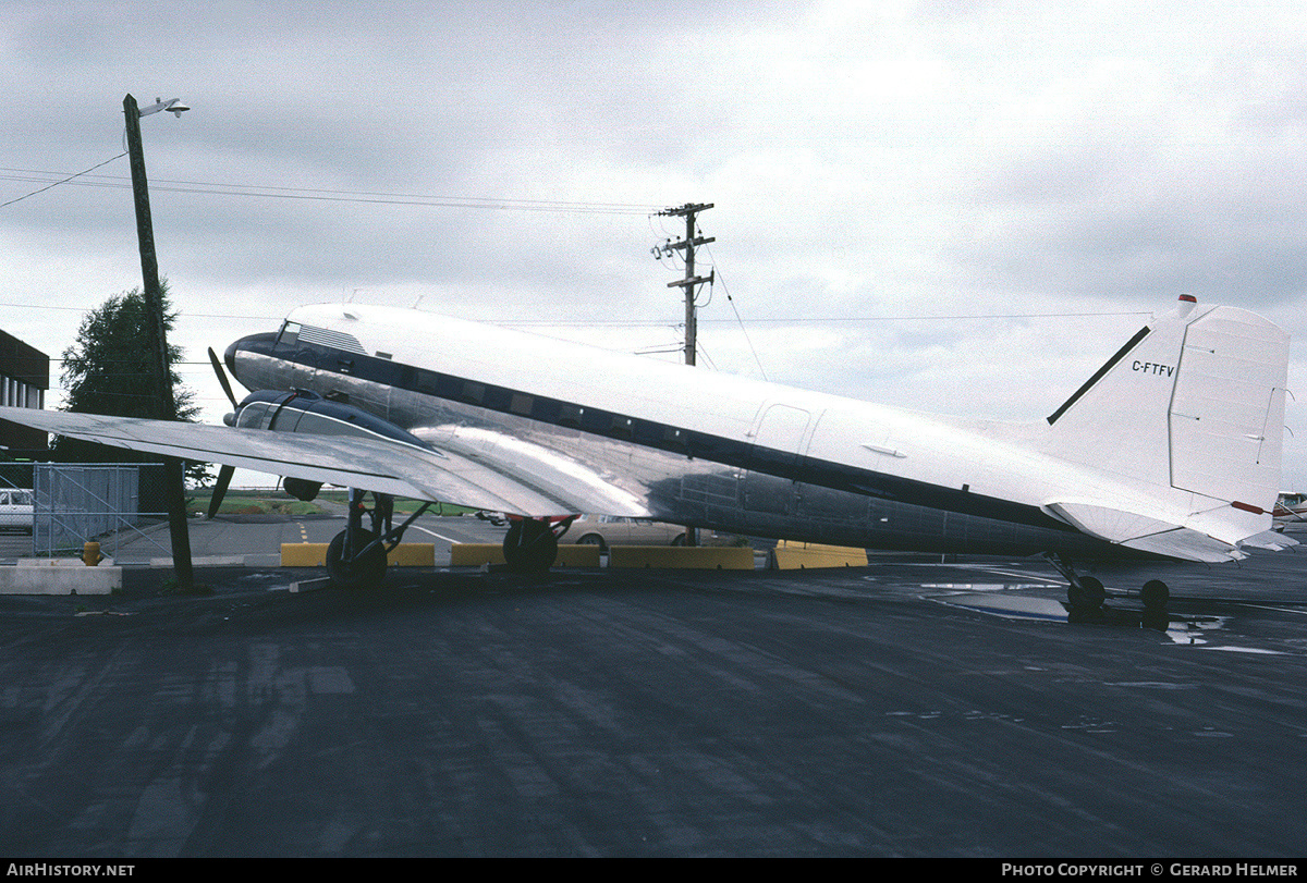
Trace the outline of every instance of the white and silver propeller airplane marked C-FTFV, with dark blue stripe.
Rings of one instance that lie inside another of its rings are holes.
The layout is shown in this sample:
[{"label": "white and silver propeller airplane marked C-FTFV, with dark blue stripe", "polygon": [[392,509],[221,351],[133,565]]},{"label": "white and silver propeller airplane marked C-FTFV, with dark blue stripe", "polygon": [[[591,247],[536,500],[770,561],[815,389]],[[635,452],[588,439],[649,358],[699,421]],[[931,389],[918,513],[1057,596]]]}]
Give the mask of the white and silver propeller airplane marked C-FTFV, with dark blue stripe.
[{"label": "white and silver propeller airplane marked C-FTFV, with dark blue stripe", "polygon": [[[1289,336],[1182,295],[1047,419],[941,417],[414,310],[318,304],[231,344],[227,426],[0,409],[60,435],[350,489],[327,571],[384,576],[393,496],[511,516],[546,571],[580,513],[884,550],[1044,555],[1074,607],[1100,558],[1225,562],[1272,530]],[[584,377],[580,383],[578,377]],[[366,506],[371,492],[374,506]],[[216,506],[216,504],[214,504]],[[370,522],[365,525],[363,517]],[[1141,597],[1165,607],[1149,580]]]}]

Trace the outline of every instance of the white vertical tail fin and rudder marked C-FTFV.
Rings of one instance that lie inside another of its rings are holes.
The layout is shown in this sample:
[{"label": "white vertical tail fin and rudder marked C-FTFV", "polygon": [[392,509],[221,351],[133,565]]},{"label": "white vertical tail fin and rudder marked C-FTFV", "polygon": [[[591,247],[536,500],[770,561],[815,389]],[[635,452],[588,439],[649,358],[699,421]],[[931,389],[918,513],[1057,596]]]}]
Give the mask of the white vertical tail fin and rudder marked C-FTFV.
[{"label": "white vertical tail fin and rudder marked C-FTFV", "polygon": [[1048,452],[1134,482],[1269,512],[1280,490],[1289,334],[1182,298],[1048,417]]}]

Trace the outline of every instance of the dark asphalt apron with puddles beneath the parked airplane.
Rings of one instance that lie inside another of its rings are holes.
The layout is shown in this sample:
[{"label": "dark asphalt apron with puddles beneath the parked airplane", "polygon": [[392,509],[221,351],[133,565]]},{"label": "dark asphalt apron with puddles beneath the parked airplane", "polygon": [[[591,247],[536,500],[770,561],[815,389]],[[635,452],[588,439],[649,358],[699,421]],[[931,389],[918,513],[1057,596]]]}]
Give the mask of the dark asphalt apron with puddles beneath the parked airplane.
[{"label": "dark asphalt apron with puddles beneath the parked airplane", "polygon": [[1307,555],[1166,570],[1157,627],[999,558],[3,597],[0,854],[1302,856]]}]

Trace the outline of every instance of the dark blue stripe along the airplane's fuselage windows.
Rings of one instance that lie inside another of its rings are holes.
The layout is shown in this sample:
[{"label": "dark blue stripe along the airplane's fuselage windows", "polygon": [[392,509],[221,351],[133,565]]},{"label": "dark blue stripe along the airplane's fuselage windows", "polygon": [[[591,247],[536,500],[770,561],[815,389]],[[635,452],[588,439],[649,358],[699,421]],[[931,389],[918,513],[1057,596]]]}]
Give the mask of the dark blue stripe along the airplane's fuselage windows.
[{"label": "dark blue stripe along the airplane's fuselage windows", "polygon": [[293,351],[290,347],[276,346],[274,341],[274,334],[255,334],[239,344],[243,349],[311,367],[318,372],[340,374],[356,380],[369,380],[422,396],[472,405],[489,411],[521,417],[550,426],[579,430],[608,439],[630,442],[690,458],[708,460],[727,466],[736,466],[795,482],[818,485],[895,503],[908,503],[982,519],[995,519],[1034,528],[1078,533],[1067,524],[1046,515],[1035,506],[1025,506],[993,496],[972,494],[966,487],[942,487],[829,460],[795,456],[795,452],[759,448],[750,442],[725,439],[710,432],[699,432],[697,430],[601,410],[559,398],[537,396],[508,387],[498,387],[452,374],[403,364],[391,359],[337,350],[318,344],[306,344],[302,338],[295,344]]}]

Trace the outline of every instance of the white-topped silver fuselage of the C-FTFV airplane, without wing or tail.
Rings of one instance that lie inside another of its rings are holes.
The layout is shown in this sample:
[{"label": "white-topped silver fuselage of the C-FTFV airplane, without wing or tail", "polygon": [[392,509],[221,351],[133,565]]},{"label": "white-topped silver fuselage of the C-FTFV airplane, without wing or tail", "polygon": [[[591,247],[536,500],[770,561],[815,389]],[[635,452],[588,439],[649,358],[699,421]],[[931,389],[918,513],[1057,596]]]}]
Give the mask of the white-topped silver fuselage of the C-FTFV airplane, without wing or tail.
[{"label": "white-topped silver fuselage of the C-FTFV airplane, without wing or tail", "polygon": [[[442,449],[592,478],[613,489],[606,515],[895,549],[1081,553],[1100,543],[1044,502],[1086,485],[1128,496],[1111,475],[1023,444],[1023,427],[412,311],[303,307],[288,328],[268,351],[238,354],[244,385],[311,389]],[[591,502],[557,496],[558,515]]]}]

